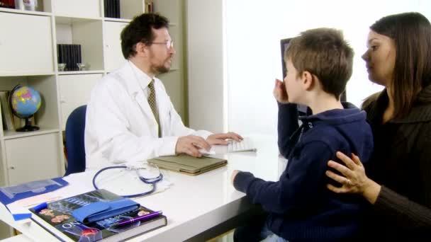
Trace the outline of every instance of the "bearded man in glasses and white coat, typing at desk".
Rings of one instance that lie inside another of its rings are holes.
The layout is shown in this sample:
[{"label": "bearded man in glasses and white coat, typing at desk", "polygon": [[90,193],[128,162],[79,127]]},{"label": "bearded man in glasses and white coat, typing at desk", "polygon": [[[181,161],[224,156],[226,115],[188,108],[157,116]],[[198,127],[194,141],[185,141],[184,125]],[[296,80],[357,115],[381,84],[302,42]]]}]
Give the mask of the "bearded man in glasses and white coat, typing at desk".
[{"label": "bearded man in glasses and white coat, typing at desk", "polygon": [[174,154],[199,157],[199,149],[242,139],[233,132],[211,134],[184,126],[155,77],[169,71],[175,54],[168,23],[163,16],[144,13],[121,33],[128,61],[96,83],[87,105],[87,168]]}]

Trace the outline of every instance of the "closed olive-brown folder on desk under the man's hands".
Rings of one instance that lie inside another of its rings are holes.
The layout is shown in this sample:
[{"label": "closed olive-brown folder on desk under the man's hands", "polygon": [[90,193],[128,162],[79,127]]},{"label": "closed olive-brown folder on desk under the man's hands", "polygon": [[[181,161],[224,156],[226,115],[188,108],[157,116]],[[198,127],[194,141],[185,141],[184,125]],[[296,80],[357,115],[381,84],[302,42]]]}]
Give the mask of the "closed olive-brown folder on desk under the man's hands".
[{"label": "closed olive-brown folder on desk under the man's hands", "polygon": [[225,166],[226,159],[202,156],[201,158],[179,155],[179,156],[160,156],[155,159],[149,159],[148,163],[154,163],[159,168],[177,171],[187,175],[198,175],[215,168]]}]

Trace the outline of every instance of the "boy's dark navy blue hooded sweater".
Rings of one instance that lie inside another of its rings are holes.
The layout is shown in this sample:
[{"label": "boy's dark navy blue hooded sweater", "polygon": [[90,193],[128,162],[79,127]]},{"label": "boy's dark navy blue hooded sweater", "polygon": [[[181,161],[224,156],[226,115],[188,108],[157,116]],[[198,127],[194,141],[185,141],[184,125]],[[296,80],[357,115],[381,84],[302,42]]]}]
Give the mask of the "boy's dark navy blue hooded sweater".
[{"label": "boy's dark navy blue hooded sweater", "polygon": [[328,161],[335,152],[357,154],[362,162],[373,150],[366,113],[354,105],[301,117],[296,105],[279,104],[279,149],[288,160],[279,181],[240,172],[234,186],[269,212],[269,228],[289,241],[341,241],[357,233],[364,200],[326,188]]}]

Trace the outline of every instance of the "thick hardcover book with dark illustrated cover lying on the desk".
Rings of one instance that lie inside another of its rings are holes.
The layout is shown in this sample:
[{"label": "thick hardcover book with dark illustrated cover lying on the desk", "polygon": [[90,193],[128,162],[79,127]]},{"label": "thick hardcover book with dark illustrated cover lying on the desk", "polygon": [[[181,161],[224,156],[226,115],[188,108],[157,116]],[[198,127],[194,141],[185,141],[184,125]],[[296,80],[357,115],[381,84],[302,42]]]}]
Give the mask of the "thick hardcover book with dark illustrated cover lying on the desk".
[{"label": "thick hardcover book with dark illustrated cover lying on the desk", "polygon": [[121,207],[123,211],[116,207],[120,214],[99,213],[94,219],[82,217],[82,212],[77,212],[86,206],[100,208],[99,202],[109,204],[123,199],[108,190],[94,190],[33,207],[30,209],[33,213],[31,219],[61,241],[121,241],[167,225],[167,219],[161,212],[135,202],[132,202],[135,207],[128,206],[125,210]]}]

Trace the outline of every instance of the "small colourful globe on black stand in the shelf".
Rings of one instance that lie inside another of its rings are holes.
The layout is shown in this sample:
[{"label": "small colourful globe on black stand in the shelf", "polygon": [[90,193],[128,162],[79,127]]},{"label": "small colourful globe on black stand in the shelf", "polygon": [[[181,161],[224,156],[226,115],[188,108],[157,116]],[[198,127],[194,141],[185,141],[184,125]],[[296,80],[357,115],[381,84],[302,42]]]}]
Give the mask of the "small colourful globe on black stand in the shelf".
[{"label": "small colourful globe on black stand in the shelf", "polygon": [[40,94],[30,86],[16,85],[9,96],[9,103],[13,115],[26,120],[24,127],[16,129],[18,132],[38,130],[39,127],[31,125],[29,118],[38,112],[40,104]]}]

